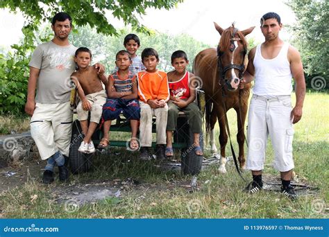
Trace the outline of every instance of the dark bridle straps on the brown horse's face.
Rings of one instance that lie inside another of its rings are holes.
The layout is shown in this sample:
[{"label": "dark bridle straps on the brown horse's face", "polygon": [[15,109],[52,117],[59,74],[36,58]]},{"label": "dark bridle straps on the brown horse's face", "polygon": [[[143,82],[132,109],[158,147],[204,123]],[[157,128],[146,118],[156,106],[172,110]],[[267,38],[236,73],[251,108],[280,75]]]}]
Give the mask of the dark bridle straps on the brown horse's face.
[{"label": "dark bridle straps on the brown horse's face", "polygon": [[[233,52],[235,51],[236,48],[236,42],[237,41],[241,41],[241,38],[239,37],[234,37],[235,33],[237,33],[237,28],[233,29],[233,33],[231,35],[230,38],[230,51]],[[230,70],[230,69],[237,69],[239,70],[239,78],[242,77],[242,73],[244,72],[244,59],[242,60],[242,64],[238,65],[238,64],[228,64],[226,67],[223,67],[223,64],[221,63],[221,55],[223,55],[224,52],[220,51],[220,49],[217,51],[217,63],[218,63],[218,71],[219,73],[221,73],[221,80],[225,80],[225,73],[226,71]],[[244,47],[244,58],[246,56],[246,48]],[[221,85],[221,82],[219,82],[219,85]]]}]

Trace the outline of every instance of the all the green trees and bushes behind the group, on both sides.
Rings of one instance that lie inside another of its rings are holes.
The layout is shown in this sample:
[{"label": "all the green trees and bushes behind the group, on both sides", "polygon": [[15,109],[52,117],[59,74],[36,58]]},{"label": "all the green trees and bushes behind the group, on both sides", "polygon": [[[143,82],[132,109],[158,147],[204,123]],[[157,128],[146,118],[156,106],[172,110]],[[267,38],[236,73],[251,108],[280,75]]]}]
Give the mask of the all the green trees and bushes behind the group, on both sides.
[{"label": "all the green trees and bushes behind the group, on both sides", "polygon": [[[20,10],[26,18],[22,28],[24,38],[19,44],[13,44],[9,52],[0,49],[0,114],[24,114],[26,89],[28,82],[28,62],[31,52],[37,44],[51,40],[49,27],[41,28],[42,22],[50,22],[51,17],[60,10],[70,12],[74,19],[74,32],[70,41],[75,46],[87,46],[93,52],[93,62],[101,62],[107,73],[115,67],[115,53],[124,49],[123,40],[127,33],[140,36],[142,49],[153,47],[160,55],[159,68],[171,69],[170,55],[178,49],[187,52],[192,70],[193,58],[202,49],[210,47],[194,40],[189,35],[170,35],[147,29],[139,23],[140,16],[147,8],[171,9],[181,0],[146,1],[0,1],[0,8],[8,8],[12,12]],[[308,87],[312,87],[312,79],[321,77],[320,89],[327,89],[329,73],[329,1],[326,0],[288,0],[287,5],[296,15],[296,24],[289,26],[294,41],[292,44],[301,53]],[[106,19],[106,11],[110,10],[117,19],[124,21],[126,28],[115,29]],[[133,14],[131,14],[133,12]],[[249,47],[255,40],[249,40]],[[214,45],[213,45],[214,46]],[[319,90],[319,87],[317,88]]]}]

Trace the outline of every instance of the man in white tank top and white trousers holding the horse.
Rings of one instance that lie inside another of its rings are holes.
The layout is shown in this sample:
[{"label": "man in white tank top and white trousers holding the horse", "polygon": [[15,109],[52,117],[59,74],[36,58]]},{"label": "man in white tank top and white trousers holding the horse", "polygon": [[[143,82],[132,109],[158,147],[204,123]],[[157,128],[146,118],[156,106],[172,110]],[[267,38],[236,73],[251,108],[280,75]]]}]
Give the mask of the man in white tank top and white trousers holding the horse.
[{"label": "man in white tank top and white trousers holding the horse", "polygon": [[[267,137],[273,150],[273,167],[280,171],[281,193],[296,199],[290,185],[294,160],[292,157],[293,124],[303,113],[305,78],[301,56],[297,49],[280,40],[282,28],[280,16],[274,12],[263,15],[260,29],[265,41],[248,53],[248,67],[244,72],[244,84],[255,78],[253,97],[248,112],[248,158],[246,169],[251,170],[253,181],[246,187],[248,193],[262,189]],[[296,105],[292,108],[292,78],[295,81]]]}]

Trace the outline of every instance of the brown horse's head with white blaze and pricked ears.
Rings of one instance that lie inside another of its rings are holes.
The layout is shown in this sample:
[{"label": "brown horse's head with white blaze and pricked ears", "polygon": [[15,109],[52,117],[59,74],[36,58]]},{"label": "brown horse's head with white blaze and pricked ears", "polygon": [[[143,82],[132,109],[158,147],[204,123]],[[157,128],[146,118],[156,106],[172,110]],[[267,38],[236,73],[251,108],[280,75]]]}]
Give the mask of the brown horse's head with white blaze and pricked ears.
[{"label": "brown horse's head with white blaze and pricked ears", "polygon": [[218,68],[221,73],[219,83],[226,85],[229,91],[239,88],[239,82],[244,71],[244,57],[247,51],[247,42],[244,36],[253,31],[254,26],[246,30],[238,30],[234,24],[223,30],[214,22],[214,27],[221,35],[217,47]]}]

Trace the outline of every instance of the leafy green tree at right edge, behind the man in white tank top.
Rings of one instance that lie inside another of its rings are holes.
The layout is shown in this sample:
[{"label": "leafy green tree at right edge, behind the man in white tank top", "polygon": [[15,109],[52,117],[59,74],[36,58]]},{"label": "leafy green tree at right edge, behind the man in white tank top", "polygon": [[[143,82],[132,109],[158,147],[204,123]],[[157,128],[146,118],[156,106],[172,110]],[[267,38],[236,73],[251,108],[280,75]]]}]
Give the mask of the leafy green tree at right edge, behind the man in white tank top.
[{"label": "leafy green tree at right edge, behind the man in white tank top", "polygon": [[314,76],[321,76],[328,88],[329,1],[289,0],[287,5],[296,15],[296,24],[289,29],[294,35],[292,44],[301,53],[307,86],[311,87]]}]

